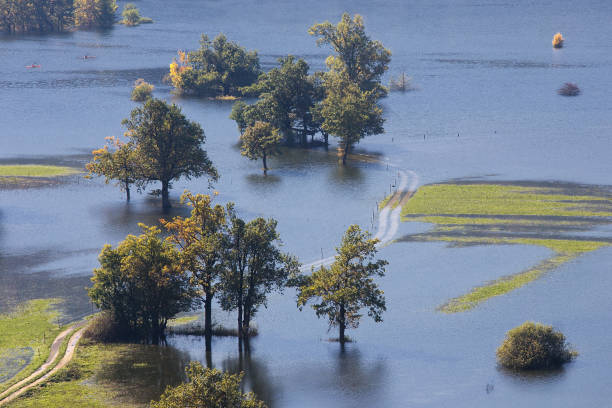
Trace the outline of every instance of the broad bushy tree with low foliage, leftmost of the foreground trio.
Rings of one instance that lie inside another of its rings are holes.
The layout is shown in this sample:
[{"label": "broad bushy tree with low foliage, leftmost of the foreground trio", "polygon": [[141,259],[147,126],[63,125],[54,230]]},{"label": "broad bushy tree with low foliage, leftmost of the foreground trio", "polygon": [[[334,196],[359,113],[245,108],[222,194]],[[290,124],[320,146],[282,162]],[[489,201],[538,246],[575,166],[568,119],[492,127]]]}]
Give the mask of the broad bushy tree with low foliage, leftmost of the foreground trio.
[{"label": "broad bushy tree with low foliage, leftmost of the foreground trio", "polygon": [[191,309],[194,293],[174,245],[159,228],[139,226],[141,235],[104,246],[89,297],[128,339],[157,343],[168,320]]}]

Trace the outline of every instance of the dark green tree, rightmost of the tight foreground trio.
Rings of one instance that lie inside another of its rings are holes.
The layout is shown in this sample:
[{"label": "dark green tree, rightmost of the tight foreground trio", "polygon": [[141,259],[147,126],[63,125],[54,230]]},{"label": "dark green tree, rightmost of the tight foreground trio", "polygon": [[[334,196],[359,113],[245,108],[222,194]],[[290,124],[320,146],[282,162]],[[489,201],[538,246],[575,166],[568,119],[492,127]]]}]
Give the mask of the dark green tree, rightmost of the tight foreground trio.
[{"label": "dark green tree, rightmost of the tight foreground trio", "polygon": [[261,217],[248,223],[235,214],[230,218],[221,307],[238,311],[240,338],[248,338],[251,319],[266,305],[268,294],[282,291],[299,271],[296,258],[277,247],[276,225]]}]

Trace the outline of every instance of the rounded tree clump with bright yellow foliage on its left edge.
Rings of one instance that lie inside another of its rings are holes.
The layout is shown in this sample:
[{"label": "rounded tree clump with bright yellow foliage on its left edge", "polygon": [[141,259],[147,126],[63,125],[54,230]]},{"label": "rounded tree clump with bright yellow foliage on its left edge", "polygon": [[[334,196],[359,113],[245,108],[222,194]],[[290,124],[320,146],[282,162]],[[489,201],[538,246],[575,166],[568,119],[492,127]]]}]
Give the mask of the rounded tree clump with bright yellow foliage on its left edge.
[{"label": "rounded tree clump with bright yellow foliage on its left edge", "polygon": [[219,34],[200,39],[200,49],[184,53],[170,64],[169,78],[178,92],[197,96],[236,96],[261,74],[256,51],[247,51]]}]

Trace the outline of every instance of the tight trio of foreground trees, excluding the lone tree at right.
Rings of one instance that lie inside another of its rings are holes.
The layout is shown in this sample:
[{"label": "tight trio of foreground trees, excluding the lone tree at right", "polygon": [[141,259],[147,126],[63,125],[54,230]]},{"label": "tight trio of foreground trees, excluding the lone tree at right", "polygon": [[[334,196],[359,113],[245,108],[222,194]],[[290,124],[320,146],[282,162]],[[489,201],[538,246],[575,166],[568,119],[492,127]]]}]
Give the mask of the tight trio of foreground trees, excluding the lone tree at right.
[{"label": "tight trio of foreground trees, excluding the lone tree at right", "polygon": [[191,216],[161,220],[166,238],[141,224],[140,236],[102,249],[89,295],[127,339],[156,343],[169,318],[203,304],[210,348],[214,300],[238,312],[238,335],[248,339],[268,294],[297,276],[297,259],[278,248],[275,220],[245,221],[233,204],[213,206],[208,195],[186,192],[182,199]]}]

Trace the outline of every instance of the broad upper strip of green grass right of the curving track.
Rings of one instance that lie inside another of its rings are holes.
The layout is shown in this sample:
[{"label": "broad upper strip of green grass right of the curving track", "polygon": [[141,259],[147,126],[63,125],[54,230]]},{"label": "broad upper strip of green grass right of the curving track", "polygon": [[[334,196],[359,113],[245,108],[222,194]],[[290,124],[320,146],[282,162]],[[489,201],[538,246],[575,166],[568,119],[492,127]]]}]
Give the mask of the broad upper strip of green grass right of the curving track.
[{"label": "broad upper strip of green grass right of the curving track", "polygon": [[[612,200],[608,197],[555,194],[551,191],[555,189],[498,184],[432,184],[419,188],[402,208],[402,216],[404,219],[413,215],[458,214],[612,217]],[[606,209],[605,206],[610,207]]]}]

